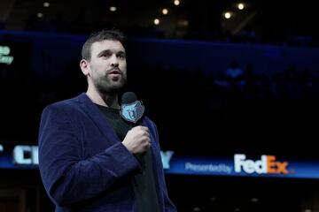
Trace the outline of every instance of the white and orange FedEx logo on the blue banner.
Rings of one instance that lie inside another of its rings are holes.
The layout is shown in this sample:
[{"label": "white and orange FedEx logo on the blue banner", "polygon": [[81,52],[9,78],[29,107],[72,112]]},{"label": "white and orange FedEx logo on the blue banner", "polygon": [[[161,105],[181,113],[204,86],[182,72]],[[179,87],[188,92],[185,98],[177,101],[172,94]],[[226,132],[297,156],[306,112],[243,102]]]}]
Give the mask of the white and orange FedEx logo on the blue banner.
[{"label": "white and orange FedEx logo on the blue banner", "polygon": [[248,174],[288,174],[288,162],[276,161],[275,155],[261,155],[261,160],[253,161],[246,159],[244,154],[234,155],[235,172],[244,170]]}]

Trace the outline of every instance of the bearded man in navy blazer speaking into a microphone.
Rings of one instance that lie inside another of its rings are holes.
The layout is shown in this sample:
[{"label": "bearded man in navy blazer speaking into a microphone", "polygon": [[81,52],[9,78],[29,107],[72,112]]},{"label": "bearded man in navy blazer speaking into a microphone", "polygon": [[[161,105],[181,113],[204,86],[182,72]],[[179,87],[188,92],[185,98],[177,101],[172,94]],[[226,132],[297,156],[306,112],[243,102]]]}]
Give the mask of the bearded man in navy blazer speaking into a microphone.
[{"label": "bearded man in navy blazer speaking into a microphone", "polygon": [[118,93],[127,80],[125,36],[103,30],[82,47],[86,93],[43,110],[39,167],[58,212],[176,211],[167,196],[156,125],[128,125]]}]

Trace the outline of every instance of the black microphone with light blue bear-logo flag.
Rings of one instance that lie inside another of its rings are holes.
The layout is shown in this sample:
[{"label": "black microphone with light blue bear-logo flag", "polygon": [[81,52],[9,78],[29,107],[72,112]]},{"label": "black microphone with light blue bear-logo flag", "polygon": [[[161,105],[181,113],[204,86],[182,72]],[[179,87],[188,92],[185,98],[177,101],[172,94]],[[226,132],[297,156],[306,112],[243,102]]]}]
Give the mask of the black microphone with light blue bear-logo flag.
[{"label": "black microphone with light blue bear-logo flag", "polygon": [[133,92],[126,92],[121,96],[121,117],[130,125],[139,125],[143,120],[144,111],[143,102],[138,101]]}]

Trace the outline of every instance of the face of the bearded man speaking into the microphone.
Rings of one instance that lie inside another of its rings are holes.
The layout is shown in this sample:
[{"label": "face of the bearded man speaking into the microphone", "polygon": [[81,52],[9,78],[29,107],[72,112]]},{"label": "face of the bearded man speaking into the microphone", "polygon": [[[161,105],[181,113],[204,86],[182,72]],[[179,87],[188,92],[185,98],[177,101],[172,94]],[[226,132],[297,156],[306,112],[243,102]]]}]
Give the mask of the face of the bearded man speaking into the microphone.
[{"label": "face of the bearded man speaking into the microphone", "polygon": [[127,80],[126,54],[121,42],[94,42],[88,68],[88,78],[97,91],[103,94],[118,92]]}]

